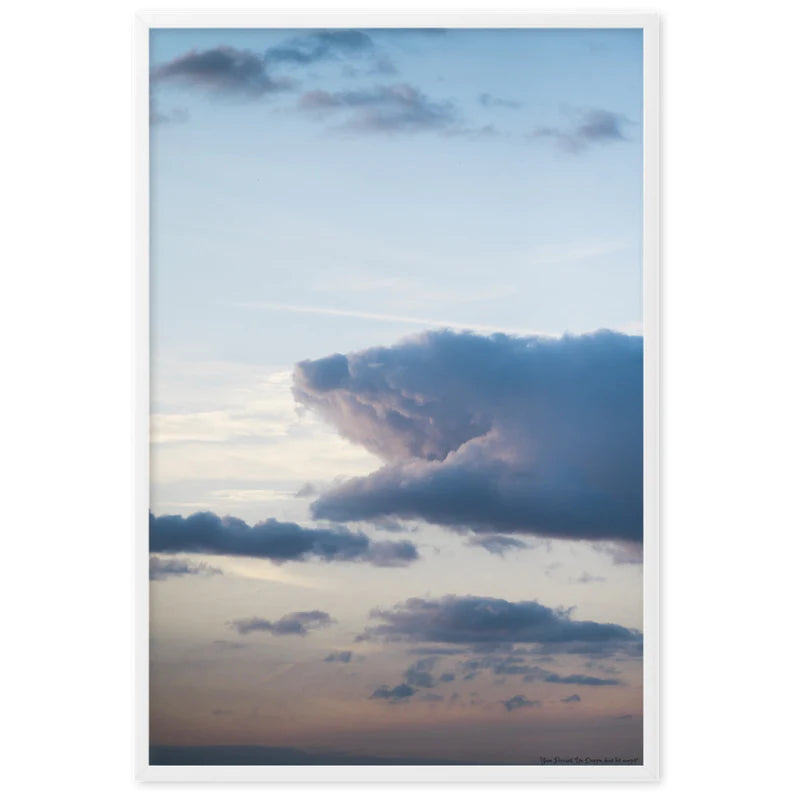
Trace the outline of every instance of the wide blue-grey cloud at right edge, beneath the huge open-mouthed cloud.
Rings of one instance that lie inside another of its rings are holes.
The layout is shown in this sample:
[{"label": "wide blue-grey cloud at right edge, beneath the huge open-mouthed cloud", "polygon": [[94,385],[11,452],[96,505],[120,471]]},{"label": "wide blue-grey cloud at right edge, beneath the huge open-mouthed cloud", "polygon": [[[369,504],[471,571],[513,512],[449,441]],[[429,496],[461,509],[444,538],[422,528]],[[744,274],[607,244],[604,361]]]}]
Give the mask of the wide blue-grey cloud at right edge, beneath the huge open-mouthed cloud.
[{"label": "wide blue-grey cloud at right edge, beneath the huge open-mouthed cloud", "polygon": [[601,644],[626,649],[641,642],[638,631],[621,625],[571,619],[570,612],[532,601],[448,595],[413,597],[390,609],[373,609],[378,625],[362,640],[442,642],[447,644],[542,643],[564,647]]}]

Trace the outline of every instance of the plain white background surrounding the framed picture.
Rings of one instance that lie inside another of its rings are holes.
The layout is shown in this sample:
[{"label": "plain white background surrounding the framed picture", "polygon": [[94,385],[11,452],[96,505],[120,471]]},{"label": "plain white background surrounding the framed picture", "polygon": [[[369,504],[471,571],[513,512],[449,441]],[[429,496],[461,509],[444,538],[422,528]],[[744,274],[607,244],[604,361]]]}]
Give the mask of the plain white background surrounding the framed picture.
[{"label": "plain white background surrounding the framed picture", "polygon": [[[130,88],[138,5],[17,3],[3,13],[0,753],[10,797],[265,791],[142,787],[132,778]],[[613,7],[663,14],[664,777],[658,786],[534,791],[787,796],[798,712],[798,13],[791,2],[766,0]],[[440,0],[436,8],[571,9],[511,0],[499,8]],[[268,791],[376,794],[371,786]]]}]

